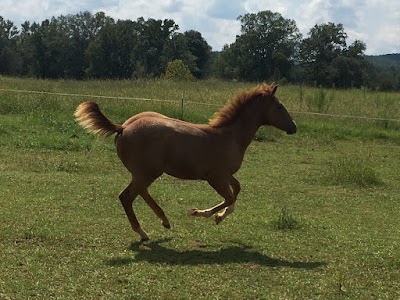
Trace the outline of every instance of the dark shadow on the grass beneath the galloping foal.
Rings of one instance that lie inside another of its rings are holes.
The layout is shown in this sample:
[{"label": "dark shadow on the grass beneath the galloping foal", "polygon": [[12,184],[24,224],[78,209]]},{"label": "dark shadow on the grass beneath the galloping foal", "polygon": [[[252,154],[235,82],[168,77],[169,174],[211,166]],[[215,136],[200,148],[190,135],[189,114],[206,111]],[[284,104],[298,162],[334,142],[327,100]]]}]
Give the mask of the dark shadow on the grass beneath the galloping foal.
[{"label": "dark shadow on the grass beneath the galloping foal", "polygon": [[268,257],[258,251],[251,250],[251,246],[229,246],[219,250],[206,249],[178,251],[161,245],[168,239],[131,245],[130,250],[135,253],[132,258],[114,258],[106,262],[109,266],[122,266],[131,263],[149,262],[168,265],[212,265],[212,264],[250,264],[266,267],[286,267],[296,269],[316,269],[326,265],[324,262],[287,261]]}]

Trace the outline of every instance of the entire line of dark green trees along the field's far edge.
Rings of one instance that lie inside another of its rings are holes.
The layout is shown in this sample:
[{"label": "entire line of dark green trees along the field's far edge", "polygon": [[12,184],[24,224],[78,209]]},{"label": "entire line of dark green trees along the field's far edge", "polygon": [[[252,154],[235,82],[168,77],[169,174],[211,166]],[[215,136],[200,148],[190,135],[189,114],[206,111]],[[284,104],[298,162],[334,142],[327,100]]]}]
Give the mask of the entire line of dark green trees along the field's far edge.
[{"label": "entire line of dark green trees along the field's far edge", "polygon": [[[347,45],[342,24],[312,27],[261,11],[239,16],[241,34],[212,52],[201,33],[178,32],[171,19],[117,20],[103,12],[28,21],[17,28],[0,17],[0,74],[38,78],[155,78],[179,61],[198,79],[289,81],[318,86],[377,87],[366,45]],[[392,89],[400,88],[394,70]]]}]

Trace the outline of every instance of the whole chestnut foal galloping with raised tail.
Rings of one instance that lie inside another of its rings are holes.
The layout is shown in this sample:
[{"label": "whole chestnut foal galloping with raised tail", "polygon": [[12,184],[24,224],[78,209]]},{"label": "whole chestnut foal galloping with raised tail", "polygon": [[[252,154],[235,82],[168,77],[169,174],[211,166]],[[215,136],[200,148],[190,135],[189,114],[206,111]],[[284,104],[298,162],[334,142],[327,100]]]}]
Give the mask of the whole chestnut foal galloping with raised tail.
[{"label": "whole chestnut foal galloping with raised tail", "polygon": [[234,174],[240,169],[245,151],[256,131],[269,125],[294,134],[297,126],[276,98],[277,85],[259,84],[240,91],[214,114],[208,124],[193,124],[156,112],[142,112],[118,125],[104,115],[95,102],[83,102],[76,121],[97,136],[115,135],[117,154],[131,173],[129,185],[119,200],[140,242],[149,240],[133,211],[133,201],[141,196],[162,225],[170,222],[149,194],[149,186],[166,173],[179,179],[206,180],[224,199],[208,209],[191,208],[188,215],[211,217],[219,224],[235,209],[240,183]]}]

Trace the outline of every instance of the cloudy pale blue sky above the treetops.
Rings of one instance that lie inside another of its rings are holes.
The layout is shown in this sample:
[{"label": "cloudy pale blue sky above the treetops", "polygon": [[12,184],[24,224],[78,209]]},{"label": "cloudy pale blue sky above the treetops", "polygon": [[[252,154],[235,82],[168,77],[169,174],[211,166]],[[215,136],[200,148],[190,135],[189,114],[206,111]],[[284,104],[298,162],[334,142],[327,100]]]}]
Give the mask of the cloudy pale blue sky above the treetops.
[{"label": "cloudy pale blue sky above the treetops", "polygon": [[237,17],[263,10],[279,12],[296,21],[307,37],[315,24],[342,23],[347,43],[366,43],[367,55],[400,53],[399,0],[1,0],[0,16],[17,27],[24,21],[41,22],[52,16],[103,11],[115,20],[173,19],[186,30],[199,31],[214,51],[240,34]]}]

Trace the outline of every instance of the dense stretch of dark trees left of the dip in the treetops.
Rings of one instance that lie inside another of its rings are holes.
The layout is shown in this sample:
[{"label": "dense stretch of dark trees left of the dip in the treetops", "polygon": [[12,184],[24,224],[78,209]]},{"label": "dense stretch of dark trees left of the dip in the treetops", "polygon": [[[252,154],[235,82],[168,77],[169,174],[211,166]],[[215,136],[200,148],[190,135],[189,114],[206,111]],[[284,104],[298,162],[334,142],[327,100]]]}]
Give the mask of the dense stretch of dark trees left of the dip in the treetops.
[{"label": "dense stretch of dark trees left of the dip in the treetops", "polygon": [[118,20],[103,12],[53,17],[21,29],[0,17],[0,73],[39,78],[158,77],[182,59],[203,76],[210,46],[173,20]]}]

